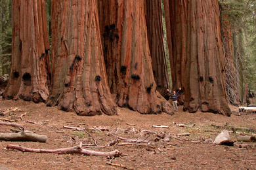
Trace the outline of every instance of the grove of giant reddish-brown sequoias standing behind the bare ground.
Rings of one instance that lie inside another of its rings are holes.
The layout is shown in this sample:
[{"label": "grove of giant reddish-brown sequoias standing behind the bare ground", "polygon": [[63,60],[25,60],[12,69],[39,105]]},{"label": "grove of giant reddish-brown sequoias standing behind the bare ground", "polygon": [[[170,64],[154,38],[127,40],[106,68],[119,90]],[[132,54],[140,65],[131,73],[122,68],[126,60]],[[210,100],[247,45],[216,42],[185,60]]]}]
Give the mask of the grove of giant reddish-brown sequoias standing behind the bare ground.
[{"label": "grove of giant reddish-brown sequoias standing behind the bare ground", "polygon": [[256,90],[255,3],[4,0],[3,97],[79,115],[113,115],[117,106],[173,114],[167,89],[181,87],[183,110],[230,116],[228,103]]}]

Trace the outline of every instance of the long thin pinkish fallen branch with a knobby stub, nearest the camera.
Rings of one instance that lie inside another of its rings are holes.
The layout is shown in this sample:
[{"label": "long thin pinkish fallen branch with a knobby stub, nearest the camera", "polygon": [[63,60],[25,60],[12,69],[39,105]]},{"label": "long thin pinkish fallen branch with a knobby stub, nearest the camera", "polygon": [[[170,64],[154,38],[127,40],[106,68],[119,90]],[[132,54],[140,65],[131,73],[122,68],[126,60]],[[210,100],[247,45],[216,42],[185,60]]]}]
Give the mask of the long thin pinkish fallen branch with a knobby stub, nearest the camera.
[{"label": "long thin pinkish fallen branch with a knobby stub, nearest the camera", "polygon": [[79,144],[79,146],[74,146],[71,148],[59,148],[59,149],[53,149],[53,150],[32,149],[32,148],[13,145],[13,144],[8,144],[6,148],[16,149],[22,152],[35,152],[35,153],[82,154],[85,156],[119,156],[121,155],[121,152],[119,152],[119,150],[114,150],[112,152],[97,152],[94,150],[83,149],[81,148],[81,144]]}]

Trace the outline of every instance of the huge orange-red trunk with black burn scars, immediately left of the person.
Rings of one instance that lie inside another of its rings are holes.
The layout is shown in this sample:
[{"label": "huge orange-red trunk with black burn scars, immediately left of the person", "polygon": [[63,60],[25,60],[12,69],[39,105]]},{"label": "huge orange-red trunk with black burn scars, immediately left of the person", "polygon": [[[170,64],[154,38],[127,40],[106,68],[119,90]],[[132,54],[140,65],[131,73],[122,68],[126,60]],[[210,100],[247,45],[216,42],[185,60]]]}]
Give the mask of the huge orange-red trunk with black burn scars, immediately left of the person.
[{"label": "huge orange-red trunk with black burn scars, immediately left of the person", "polygon": [[142,114],[171,114],[170,103],[156,91],[144,1],[108,0],[98,5],[109,86],[117,105]]}]

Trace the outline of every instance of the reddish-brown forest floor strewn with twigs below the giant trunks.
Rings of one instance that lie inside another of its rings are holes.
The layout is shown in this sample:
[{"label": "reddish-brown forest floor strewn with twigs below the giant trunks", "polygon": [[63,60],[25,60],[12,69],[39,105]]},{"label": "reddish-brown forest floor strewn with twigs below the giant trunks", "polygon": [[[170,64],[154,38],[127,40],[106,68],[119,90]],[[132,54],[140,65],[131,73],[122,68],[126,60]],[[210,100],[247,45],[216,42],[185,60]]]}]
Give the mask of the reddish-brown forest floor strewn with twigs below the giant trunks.
[{"label": "reddish-brown forest floor strewn with twigs below the giant trunks", "polygon": [[[0,99],[0,110],[8,109],[13,110],[0,116],[1,120],[14,120],[26,130],[47,135],[48,139],[46,143],[0,141],[0,169],[256,169],[256,143],[241,143],[236,138],[238,133],[255,135],[255,131],[243,128],[256,128],[256,114],[239,115],[236,107],[232,107],[230,117],[208,112],[182,112],[182,107],[172,116],[165,113],[142,115],[125,108],[119,108],[118,116],[77,116],[57,107],[46,107],[44,103]],[[178,127],[178,124],[188,127]],[[91,136],[64,126],[84,127]],[[108,131],[98,130],[100,127]],[[242,128],[232,133],[232,127]],[[10,133],[10,129],[17,128],[0,126],[0,133]],[[213,144],[224,129],[230,132],[234,146]],[[170,141],[161,139],[168,134]],[[108,146],[117,137],[142,139],[142,143],[123,144],[126,142],[119,140]],[[57,149],[77,146],[80,142],[95,144],[95,141],[98,146],[106,147],[87,149],[102,152],[117,149],[122,155],[110,158],[6,148],[8,144],[16,144],[34,149]],[[108,162],[124,167],[108,165]]]}]

